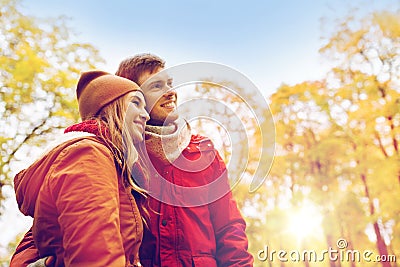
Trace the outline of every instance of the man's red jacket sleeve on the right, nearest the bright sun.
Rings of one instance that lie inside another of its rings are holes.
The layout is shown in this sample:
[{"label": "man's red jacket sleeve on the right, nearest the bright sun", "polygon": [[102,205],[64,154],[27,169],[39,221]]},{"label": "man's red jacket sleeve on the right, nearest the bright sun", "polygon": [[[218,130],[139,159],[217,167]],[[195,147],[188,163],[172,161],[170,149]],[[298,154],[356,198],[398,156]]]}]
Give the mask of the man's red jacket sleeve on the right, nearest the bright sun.
[{"label": "man's red jacket sleeve on the right, nearest the bright sun", "polygon": [[222,198],[209,205],[211,221],[216,238],[216,258],[219,267],[253,266],[253,256],[248,252],[248,240],[244,221],[236,201],[233,199],[225,163],[216,152],[214,168],[218,179],[228,191]]}]

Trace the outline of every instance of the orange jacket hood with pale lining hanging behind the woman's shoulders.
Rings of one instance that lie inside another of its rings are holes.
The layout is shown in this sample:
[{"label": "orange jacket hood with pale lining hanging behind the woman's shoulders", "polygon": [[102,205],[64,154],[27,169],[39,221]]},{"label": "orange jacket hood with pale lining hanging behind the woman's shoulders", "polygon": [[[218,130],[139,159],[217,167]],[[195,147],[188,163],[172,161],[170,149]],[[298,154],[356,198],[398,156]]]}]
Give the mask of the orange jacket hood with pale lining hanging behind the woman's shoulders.
[{"label": "orange jacket hood with pale lining hanging behind the woman's shoulders", "polygon": [[14,190],[18,207],[24,215],[33,217],[36,200],[43,181],[63,148],[85,137],[94,136],[85,132],[71,132],[52,142],[39,158],[14,177]]}]

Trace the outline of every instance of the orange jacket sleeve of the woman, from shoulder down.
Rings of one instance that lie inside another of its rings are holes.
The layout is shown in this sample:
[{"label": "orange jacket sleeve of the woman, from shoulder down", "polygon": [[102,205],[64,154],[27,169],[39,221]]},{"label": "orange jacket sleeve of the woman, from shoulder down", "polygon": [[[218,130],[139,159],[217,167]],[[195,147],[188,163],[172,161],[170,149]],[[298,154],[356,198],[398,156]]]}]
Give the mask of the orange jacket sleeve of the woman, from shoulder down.
[{"label": "orange jacket sleeve of the woman, from shoulder down", "polygon": [[64,149],[54,165],[48,194],[56,203],[65,266],[125,266],[111,152],[83,140]]}]

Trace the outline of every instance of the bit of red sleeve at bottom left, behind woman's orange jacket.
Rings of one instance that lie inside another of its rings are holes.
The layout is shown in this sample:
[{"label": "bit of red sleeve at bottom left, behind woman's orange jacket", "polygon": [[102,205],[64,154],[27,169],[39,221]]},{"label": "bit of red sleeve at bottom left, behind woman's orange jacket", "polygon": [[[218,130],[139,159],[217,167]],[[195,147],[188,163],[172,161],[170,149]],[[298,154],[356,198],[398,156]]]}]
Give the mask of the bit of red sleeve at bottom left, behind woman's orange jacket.
[{"label": "bit of red sleeve at bottom left, behind woman's orange jacket", "polygon": [[11,257],[10,267],[26,267],[39,259],[39,251],[33,241],[32,229],[24,235]]}]

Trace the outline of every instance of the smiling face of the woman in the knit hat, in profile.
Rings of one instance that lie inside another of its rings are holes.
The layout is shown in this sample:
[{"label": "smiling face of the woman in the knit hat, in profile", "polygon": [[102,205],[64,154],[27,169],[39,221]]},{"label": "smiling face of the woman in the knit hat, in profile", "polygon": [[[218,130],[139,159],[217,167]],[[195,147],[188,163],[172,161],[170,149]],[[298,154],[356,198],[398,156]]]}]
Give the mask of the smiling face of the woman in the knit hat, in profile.
[{"label": "smiling face of the woman in the knit hat, in profile", "polygon": [[134,143],[143,141],[143,133],[146,122],[150,119],[145,107],[143,94],[133,91],[126,94],[127,110],[125,124]]}]

